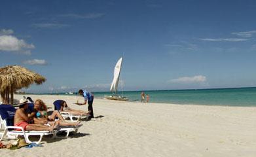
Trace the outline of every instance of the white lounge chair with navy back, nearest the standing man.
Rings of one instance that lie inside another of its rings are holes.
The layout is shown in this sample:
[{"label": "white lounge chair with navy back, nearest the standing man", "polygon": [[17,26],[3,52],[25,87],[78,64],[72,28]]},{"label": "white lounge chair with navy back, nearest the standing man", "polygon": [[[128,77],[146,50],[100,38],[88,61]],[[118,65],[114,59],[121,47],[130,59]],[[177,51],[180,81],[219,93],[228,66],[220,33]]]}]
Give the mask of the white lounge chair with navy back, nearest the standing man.
[{"label": "white lounge chair with navy back, nearest the standing man", "polygon": [[[60,108],[61,108],[61,103],[63,102],[63,100],[56,100],[53,102],[53,105],[54,105],[54,110],[58,110],[60,111]],[[88,118],[88,116],[80,116],[80,115],[74,115],[74,114],[71,114],[69,112],[65,112],[65,111],[60,111],[60,114],[62,114],[62,116],[64,118],[69,118],[71,121],[75,121],[77,122],[79,119],[82,119],[82,118]]]}]

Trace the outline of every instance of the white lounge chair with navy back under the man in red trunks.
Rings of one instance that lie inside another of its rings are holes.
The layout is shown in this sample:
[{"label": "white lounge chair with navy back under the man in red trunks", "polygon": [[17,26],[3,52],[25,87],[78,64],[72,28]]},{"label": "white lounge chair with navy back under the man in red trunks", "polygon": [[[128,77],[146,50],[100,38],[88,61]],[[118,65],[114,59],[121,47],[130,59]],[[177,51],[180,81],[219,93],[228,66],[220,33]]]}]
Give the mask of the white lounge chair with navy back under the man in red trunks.
[{"label": "white lounge chair with navy back under the man in red trunks", "polygon": [[[6,135],[14,135],[14,137],[18,137],[18,135],[23,135],[27,143],[40,143],[44,135],[53,135],[53,137],[56,136],[56,133],[58,130],[54,131],[26,131],[22,127],[19,126],[13,126],[14,122],[14,114],[16,109],[12,107],[12,105],[0,105],[0,120],[1,120],[1,126],[5,128],[3,133],[1,133],[1,139]],[[14,129],[18,129],[21,131],[16,131]],[[30,135],[39,135],[40,138],[38,141],[30,141],[29,136]]]}]

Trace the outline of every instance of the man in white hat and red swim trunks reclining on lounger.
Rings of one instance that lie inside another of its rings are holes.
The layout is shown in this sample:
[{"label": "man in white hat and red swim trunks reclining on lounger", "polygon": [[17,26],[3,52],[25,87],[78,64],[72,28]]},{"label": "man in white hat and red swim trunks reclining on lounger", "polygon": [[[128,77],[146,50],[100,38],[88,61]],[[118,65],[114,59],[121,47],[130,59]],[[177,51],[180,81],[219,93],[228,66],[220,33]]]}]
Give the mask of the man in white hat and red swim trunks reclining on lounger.
[{"label": "man in white hat and red swim trunks reclining on lounger", "polygon": [[[24,130],[35,130],[35,131],[53,131],[54,128],[58,128],[58,124],[54,123],[52,126],[45,126],[43,124],[29,124],[32,122],[32,117],[35,116],[35,113],[27,114],[25,111],[28,107],[26,99],[20,99],[19,108],[16,110],[14,115],[14,126],[20,126]],[[19,129],[16,129],[20,131]]]}]

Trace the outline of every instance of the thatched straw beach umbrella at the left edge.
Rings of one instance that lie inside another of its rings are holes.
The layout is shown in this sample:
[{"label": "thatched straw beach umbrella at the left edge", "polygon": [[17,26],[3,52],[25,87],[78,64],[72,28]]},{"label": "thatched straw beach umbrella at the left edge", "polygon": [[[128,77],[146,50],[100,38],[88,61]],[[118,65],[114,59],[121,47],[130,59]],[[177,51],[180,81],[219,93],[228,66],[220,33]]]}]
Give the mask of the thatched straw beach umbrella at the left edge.
[{"label": "thatched straw beach umbrella at the left edge", "polygon": [[[13,104],[13,93],[30,84],[42,84],[45,77],[18,65],[0,68],[0,93],[5,103]],[[10,94],[10,97],[9,97]]]}]

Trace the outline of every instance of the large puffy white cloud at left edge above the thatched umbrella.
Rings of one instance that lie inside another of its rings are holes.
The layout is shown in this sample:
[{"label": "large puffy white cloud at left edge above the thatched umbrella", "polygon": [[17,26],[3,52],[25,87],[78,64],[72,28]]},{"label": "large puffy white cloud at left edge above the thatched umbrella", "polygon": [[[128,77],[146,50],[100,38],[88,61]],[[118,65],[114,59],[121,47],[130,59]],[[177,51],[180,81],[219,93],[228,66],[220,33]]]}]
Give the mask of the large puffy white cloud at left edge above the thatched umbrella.
[{"label": "large puffy white cloud at left edge above the thatched umbrella", "polygon": [[[29,49],[35,48],[33,44],[27,44],[23,39],[17,39],[12,35],[0,35],[0,51],[20,52],[31,54]],[[29,52],[29,53],[28,53]]]}]

